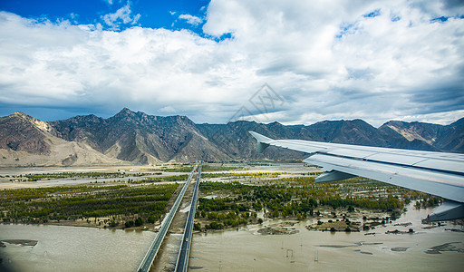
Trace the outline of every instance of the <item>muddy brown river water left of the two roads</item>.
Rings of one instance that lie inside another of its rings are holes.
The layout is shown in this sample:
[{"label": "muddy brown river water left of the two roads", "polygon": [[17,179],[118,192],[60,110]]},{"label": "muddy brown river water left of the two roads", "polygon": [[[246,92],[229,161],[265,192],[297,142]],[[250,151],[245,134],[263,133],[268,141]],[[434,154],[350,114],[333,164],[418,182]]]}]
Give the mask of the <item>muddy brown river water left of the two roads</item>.
[{"label": "muddy brown river water left of the two roads", "polygon": [[5,243],[0,271],[135,271],[155,236],[150,231],[0,225],[0,240],[37,241],[34,247]]}]

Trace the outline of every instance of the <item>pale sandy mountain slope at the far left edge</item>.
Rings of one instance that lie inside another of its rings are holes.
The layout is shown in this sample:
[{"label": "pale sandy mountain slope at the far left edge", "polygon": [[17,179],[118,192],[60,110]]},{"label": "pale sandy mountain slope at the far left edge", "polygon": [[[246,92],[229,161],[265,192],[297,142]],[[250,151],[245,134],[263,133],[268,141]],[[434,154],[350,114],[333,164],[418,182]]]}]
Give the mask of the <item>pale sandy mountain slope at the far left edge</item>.
[{"label": "pale sandy mountain slope at the far left edge", "polygon": [[0,166],[113,165],[125,163],[95,151],[85,142],[53,136],[53,127],[24,114],[0,119]]}]

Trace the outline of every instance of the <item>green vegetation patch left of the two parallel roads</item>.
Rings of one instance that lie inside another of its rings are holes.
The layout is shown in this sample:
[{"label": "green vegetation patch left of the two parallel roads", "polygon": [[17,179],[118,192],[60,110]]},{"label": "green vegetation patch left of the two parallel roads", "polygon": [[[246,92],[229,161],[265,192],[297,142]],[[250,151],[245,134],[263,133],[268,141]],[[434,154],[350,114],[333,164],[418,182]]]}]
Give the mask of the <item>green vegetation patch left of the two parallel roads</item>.
[{"label": "green vegetation patch left of the two parallel roads", "polygon": [[[134,226],[154,222],[166,211],[166,205],[179,184],[131,187],[73,186],[0,191],[0,210],[14,222],[47,222],[111,218],[109,227],[137,216]],[[131,224],[131,223],[129,223]]]}]

